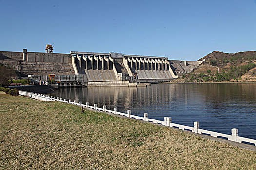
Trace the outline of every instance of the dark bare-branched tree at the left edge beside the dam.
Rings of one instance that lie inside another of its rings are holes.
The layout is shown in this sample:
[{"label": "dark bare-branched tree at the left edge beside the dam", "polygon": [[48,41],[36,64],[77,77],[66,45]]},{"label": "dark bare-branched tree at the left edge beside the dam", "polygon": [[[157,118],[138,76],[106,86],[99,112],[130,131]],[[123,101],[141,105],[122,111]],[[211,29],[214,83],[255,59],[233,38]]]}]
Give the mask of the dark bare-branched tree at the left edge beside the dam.
[{"label": "dark bare-branched tree at the left edge beside the dam", "polygon": [[15,77],[14,69],[0,65],[0,86],[9,85],[8,80]]}]

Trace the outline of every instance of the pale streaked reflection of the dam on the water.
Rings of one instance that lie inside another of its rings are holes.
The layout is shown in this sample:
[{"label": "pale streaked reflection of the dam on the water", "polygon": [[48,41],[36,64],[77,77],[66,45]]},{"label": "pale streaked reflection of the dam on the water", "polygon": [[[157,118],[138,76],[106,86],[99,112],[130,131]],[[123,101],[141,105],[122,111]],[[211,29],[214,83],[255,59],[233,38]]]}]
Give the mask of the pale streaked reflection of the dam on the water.
[{"label": "pale streaked reflection of the dam on the water", "polygon": [[173,101],[172,94],[175,91],[175,86],[155,86],[155,88],[62,88],[56,93],[63,99],[82,101],[82,103],[89,102],[89,104],[97,103],[99,107],[106,105],[111,109],[118,107],[118,111],[126,112],[127,110],[135,111],[136,108],[144,106],[153,108],[155,105],[161,106],[163,103]]}]

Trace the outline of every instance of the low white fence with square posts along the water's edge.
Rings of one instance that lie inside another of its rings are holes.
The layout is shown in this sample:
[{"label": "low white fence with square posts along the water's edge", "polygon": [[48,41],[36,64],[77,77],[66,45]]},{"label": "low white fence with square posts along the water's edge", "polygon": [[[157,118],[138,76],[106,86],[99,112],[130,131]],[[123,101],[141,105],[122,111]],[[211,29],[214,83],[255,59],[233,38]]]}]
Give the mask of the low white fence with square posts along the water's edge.
[{"label": "low white fence with square posts along the water's edge", "polygon": [[28,97],[31,97],[31,98],[34,98],[34,99],[38,99],[40,101],[65,102],[65,103],[69,103],[69,104],[74,104],[74,105],[78,105],[78,106],[87,107],[87,108],[94,109],[94,110],[109,112],[109,113],[113,113],[113,114],[116,114],[116,115],[122,115],[122,116],[126,116],[126,117],[129,117],[129,118],[134,118],[134,119],[139,119],[139,120],[143,120],[143,121],[153,122],[153,123],[161,124],[161,125],[164,125],[164,126],[176,127],[178,129],[182,129],[182,130],[190,130],[190,131],[198,133],[198,134],[208,134],[208,135],[213,136],[213,137],[224,137],[224,138],[227,138],[228,140],[238,142],[238,143],[248,142],[248,143],[252,143],[256,146],[256,140],[238,136],[238,129],[236,129],[236,128],[231,129],[231,135],[228,135],[228,134],[222,134],[222,133],[218,133],[218,132],[213,132],[213,131],[209,131],[209,130],[200,129],[198,121],[194,122],[194,127],[190,127],[190,126],[185,126],[185,125],[172,123],[172,118],[170,118],[170,117],[164,117],[164,121],[160,121],[160,120],[148,118],[147,113],[144,113],[144,117],[140,117],[140,116],[132,115],[131,110],[128,110],[127,113],[122,113],[122,112],[118,112],[118,108],[114,108],[114,111],[113,111],[113,110],[106,109],[106,106],[103,106],[103,108],[99,108],[99,107],[97,107],[97,104],[94,104],[93,106],[90,106],[88,102],[86,102],[86,104],[82,104],[82,102],[77,103],[77,101],[71,102],[70,99],[67,101],[66,99],[63,100],[62,98],[59,99],[58,97],[56,98],[56,97],[53,97],[53,96],[47,96],[47,95],[43,95],[43,94],[26,92],[26,91],[21,91],[21,90],[19,90],[19,94],[22,95],[22,96],[28,96]]}]

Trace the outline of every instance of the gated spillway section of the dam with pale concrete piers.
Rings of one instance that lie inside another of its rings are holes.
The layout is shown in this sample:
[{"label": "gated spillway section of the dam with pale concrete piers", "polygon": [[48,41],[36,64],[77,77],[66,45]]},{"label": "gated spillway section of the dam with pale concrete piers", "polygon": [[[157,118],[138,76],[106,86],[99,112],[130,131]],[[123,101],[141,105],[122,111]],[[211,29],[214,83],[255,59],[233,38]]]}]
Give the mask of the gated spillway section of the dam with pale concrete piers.
[{"label": "gated spillway section of the dam with pale concrete piers", "polygon": [[166,57],[71,51],[76,74],[88,81],[166,82],[177,78]]}]

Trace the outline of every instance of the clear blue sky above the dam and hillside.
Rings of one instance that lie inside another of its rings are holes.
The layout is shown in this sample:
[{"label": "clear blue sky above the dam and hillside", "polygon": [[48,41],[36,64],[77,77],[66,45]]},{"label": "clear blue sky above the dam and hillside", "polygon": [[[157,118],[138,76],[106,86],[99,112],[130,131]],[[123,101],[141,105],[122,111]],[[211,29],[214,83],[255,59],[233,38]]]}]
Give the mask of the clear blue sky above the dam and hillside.
[{"label": "clear blue sky above the dam and hillside", "polygon": [[0,51],[120,52],[195,61],[256,50],[256,0],[0,0]]}]

